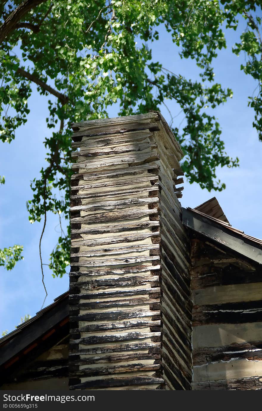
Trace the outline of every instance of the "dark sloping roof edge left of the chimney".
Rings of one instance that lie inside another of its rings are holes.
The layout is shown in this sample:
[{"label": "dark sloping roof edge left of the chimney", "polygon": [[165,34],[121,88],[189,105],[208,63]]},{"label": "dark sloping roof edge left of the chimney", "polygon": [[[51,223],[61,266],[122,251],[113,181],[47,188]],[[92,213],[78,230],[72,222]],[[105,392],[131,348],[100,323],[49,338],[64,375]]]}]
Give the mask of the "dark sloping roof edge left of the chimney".
[{"label": "dark sloping roof edge left of the chimney", "polygon": [[46,347],[48,340],[53,339],[55,333],[60,335],[67,330],[68,298],[69,291],[55,298],[52,304],[0,339],[0,367],[7,369],[41,344],[44,343]]}]

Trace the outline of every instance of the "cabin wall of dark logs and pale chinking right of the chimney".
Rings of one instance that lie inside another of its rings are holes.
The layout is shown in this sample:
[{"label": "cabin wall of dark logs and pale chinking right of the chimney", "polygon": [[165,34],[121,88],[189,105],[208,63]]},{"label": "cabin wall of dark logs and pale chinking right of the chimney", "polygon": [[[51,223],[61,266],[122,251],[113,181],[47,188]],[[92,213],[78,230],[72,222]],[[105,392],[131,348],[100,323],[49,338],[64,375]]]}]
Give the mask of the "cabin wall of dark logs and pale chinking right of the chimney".
[{"label": "cabin wall of dark logs and pale chinking right of the chimney", "polygon": [[193,390],[262,389],[262,270],[192,240]]}]

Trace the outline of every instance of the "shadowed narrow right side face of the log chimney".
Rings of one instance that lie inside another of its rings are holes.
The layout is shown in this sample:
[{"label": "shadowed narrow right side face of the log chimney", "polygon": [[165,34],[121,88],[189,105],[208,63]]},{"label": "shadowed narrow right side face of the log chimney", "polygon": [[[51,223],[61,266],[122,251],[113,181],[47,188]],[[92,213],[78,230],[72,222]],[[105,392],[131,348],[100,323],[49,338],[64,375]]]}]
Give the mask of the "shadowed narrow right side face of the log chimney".
[{"label": "shadowed narrow right side face of the log chimney", "polygon": [[179,177],[181,152],[176,142],[171,145],[170,135],[163,130],[158,134],[155,138],[160,156],[161,363],[166,389],[191,390],[190,241],[177,199],[182,194],[175,193],[177,185],[183,181]]}]

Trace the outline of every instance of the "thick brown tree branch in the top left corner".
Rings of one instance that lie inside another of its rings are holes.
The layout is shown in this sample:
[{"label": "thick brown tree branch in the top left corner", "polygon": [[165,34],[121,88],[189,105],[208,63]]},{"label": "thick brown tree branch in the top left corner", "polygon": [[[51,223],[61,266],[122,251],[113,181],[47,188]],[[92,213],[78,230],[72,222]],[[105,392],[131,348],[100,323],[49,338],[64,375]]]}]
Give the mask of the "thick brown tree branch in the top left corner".
[{"label": "thick brown tree branch in the top left corner", "polygon": [[21,21],[21,18],[32,10],[34,7],[47,0],[25,0],[15,10],[13,10],[0,26],[0,44],[5,40],[9,33],[16,27],[16,24]]}]

